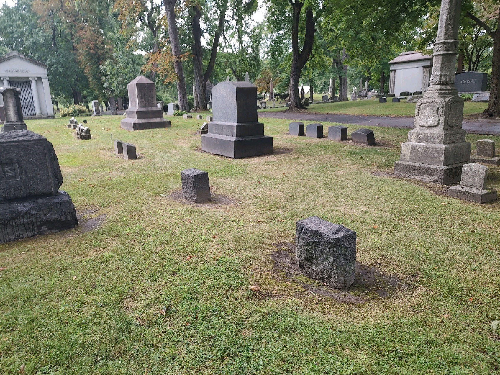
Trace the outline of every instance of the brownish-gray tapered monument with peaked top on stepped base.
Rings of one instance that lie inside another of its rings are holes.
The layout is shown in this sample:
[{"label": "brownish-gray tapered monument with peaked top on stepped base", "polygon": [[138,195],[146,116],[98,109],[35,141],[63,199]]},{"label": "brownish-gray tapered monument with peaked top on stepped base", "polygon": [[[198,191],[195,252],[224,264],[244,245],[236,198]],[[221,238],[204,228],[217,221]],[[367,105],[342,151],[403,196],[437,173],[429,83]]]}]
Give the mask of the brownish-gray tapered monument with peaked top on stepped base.
[{"label": "brownish-gray tapered monument with peaked top on stepped base", "polygon": [[130,107],[120,127],[126,130],[143,130],[170,127],[170,121],[163,118],[163,109],[156,106],[154,82],[139,75],[127,84]]}]

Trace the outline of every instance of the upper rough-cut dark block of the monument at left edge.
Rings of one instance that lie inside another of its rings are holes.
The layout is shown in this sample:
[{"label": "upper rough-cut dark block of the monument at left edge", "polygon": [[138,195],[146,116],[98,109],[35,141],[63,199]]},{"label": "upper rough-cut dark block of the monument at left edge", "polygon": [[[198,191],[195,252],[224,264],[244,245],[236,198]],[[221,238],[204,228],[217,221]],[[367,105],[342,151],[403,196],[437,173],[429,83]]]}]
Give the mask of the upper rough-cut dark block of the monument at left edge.
[{"label": "upper rough-cut dark block of the monument at left edge", "polygon": [[0,133],[0,203],[54,195],[61,185],[52,143],[29,130]]}]

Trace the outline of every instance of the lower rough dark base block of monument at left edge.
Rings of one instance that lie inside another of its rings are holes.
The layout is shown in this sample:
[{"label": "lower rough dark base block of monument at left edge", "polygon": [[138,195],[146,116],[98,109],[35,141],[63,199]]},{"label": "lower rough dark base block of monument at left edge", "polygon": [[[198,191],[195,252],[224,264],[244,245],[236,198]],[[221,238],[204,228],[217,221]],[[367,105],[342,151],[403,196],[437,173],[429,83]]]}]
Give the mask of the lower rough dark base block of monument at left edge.
[{"label": "lower rough dark base block of monument at left edge", "polygon": [[73,202],[65,191],[0,204],[0,243],[71,229],[77,224]]}]

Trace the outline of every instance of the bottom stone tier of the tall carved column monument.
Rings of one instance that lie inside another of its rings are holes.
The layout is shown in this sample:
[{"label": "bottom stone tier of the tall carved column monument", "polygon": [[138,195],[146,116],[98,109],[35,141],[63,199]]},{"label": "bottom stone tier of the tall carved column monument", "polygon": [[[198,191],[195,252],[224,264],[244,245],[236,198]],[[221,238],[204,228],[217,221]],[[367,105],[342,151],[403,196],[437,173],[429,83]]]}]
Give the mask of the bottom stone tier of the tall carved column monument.
[{"label": "bottom stone tier of the tall carved column monument", "polygon": [[452,185],[460,183],[462,165],[465,163],[430,165],[399,160],[394,163],[394,175],[396,177],[414,178],[424,182],[435,182],[441,185]]}]

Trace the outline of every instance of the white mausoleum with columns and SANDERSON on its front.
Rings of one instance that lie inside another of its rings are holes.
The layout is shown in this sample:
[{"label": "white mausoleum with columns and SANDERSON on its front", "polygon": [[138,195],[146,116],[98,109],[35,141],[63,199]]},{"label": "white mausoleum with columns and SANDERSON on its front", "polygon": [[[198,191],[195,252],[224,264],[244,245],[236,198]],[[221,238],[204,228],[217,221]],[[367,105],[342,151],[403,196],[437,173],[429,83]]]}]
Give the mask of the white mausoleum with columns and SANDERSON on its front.
[{"label": "white mausoleum with columns and SANDERSON on its front", "polygon": [[[54,118],[46,65],[17,52],[9,52],[0,57],[0,85],[21,89],[20,100],[25,119]],[[0,110],[3,109],[1,95],[0,106]]]}]

